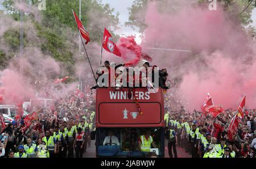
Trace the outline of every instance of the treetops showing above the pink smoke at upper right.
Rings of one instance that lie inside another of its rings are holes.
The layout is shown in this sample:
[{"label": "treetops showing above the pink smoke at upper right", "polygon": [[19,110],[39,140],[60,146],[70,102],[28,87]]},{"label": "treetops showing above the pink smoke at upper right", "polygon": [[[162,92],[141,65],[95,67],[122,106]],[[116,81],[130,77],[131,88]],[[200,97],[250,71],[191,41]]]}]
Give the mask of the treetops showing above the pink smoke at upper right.
[{"label": "treetops showing above the pink smoke at upper right", "polygon": [[[148,3],[154,0],[135,0],[133,5],[129,8],[129,22],[126,22],[127,26],[131,26],[134,29],[138,28],[139,32],[143,33],[144,29],[147,27],[145,23],[145,15]],[[242,26],[247,26],[251,23],[251,10],[253,7],[256,7],[256,0],[217,0],[218,4],[220,4],[223,9],[230,13],[230,15],[234,16],[234,18],[238,19]],[[174,13],[180,10],[180,7],[184,5],[181,3],[182,1],[177,0],[157,0],[159,7],[159,12],[163,13]],[[187,5],[191,6],[201,6],[209,5],[208,0],[195,0],[187,3]]]}]

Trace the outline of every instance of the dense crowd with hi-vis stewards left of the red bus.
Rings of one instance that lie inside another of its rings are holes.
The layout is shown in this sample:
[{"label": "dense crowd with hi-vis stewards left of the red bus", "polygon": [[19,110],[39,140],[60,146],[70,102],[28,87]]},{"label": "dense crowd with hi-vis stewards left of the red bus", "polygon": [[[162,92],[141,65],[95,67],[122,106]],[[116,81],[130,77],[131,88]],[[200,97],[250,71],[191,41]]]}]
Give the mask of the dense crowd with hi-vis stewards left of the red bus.
[{"label": "dense crowd with hi-vis stewards left of the red bus", "polygon": [[[2,130],[0,126],[0,157],[82,157],[90,146],[90,133],[95,130],[95,100],[85,87],[84,99],[73,94],[55,101],[55,108],[44,107],[24,130],[24,118],[13,121]],[[35,112],[37,107],[27,107]],[[55,116],[57,112],[57,117]],[[30,114],[31,114],[30,113]],[[79,138],[79,140],[77,139]]]}]

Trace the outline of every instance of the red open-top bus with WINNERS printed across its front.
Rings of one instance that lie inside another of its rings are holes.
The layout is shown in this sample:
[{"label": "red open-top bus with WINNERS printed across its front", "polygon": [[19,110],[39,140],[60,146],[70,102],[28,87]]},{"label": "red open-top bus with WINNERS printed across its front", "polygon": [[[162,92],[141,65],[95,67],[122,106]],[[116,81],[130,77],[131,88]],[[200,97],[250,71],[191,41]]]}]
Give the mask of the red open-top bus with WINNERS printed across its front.
[{"label": "red open-top bus with WINNERS printed across its front", "polygon": [[[147,157],[140,151],[139,138],[150,130],[155,147],[150,151],[164,157],[164,98],[163,90],[150,93],[147,88],[97,88],[96,91],[96,155],[97,157]],[[113,140],[109,141],[109,132]],[[110,143],[111,142],[111,143]]]}]

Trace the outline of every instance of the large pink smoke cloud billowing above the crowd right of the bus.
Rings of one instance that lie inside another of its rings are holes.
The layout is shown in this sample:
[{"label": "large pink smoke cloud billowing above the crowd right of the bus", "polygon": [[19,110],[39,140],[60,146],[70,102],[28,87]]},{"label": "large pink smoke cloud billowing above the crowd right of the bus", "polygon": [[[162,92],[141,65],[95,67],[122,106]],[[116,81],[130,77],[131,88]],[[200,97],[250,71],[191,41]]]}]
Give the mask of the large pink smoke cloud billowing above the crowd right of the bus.
[{"label": "large pink smoke cloud billowing above the crowd right of the bus", "polygon": [[[159,3],[149,3],[142,48],[171,76],[183,79],[178,95],[187,108],[200,109],[207,96],[224,108],[237,108],[244,94],[247,108],[255,108],[255,41],[246,36],[240,23],[220,6],[182,6],[172,14],[159,12]],[[189,52],[149,50],[183,49]]]}]

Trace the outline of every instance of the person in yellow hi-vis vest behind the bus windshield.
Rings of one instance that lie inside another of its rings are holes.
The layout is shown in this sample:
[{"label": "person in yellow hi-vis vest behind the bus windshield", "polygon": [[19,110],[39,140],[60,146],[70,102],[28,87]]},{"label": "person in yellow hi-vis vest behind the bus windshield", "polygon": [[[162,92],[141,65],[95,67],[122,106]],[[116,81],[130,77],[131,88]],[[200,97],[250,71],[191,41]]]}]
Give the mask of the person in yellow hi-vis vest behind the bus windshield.
[{"label": "person in yellow hi-vis vest behind the bus windshield", "polygon": [[151,131],[149,129],[146,130],[146,133],[139,137],[139,150],[144,152],[150,152],[151,144],[155,148],[155,142],[153,137],[150,135]]}]

